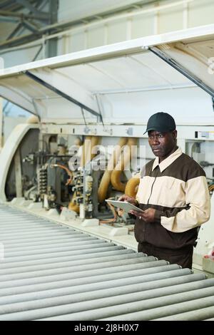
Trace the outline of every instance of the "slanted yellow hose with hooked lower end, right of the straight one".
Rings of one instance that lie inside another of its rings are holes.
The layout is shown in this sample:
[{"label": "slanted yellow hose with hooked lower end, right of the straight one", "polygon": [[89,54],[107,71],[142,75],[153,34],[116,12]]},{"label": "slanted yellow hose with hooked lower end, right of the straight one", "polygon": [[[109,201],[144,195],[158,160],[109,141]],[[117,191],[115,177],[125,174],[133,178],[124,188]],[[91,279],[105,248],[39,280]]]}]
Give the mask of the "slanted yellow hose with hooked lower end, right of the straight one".
[{"label": "slanted yellow hose with hooked lower end, right of the straight one", "polygon": [[133,155],[133,150],[131,150],[131,147],[133,145],[137,145],[137,141],[137,138],[128,138],[127,148],[123,150],[121,159],[111,173],[111,185],[115,188],[115,190],[121,192],[125,191],[126,183],[121,182],[121,172],[125,170],[127,164],[130,162]]}]

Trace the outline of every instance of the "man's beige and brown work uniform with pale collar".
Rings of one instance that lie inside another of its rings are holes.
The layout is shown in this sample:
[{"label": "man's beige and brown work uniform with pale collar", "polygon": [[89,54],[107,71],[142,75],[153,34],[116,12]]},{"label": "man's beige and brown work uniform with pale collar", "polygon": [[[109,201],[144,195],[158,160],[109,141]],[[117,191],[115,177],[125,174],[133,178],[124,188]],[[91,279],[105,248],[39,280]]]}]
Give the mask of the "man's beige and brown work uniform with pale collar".
[{"label": "man's beige and brown work uniform with pale collar", "polygon": [[210,195],[200,165],[180,148],[161,163],[158,157],[151,160],[141,172],[136,200],[142,210],[156,209],[154,222],[136,219],[138,251],[190,267],[198,226],[210,217]]}]

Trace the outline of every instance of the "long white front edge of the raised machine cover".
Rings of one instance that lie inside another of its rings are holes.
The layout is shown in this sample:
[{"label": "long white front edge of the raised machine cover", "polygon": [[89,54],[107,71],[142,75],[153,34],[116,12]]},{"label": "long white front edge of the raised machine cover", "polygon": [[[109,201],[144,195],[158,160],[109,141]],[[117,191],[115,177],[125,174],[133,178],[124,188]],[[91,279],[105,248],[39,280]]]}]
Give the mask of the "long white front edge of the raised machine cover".
[{"label": "long white front edge of the raised machine cover", "polygon": [[163,33],[161,35],[136,38],[130,41],[123,41],[108,46],[91,48],[88,50],[77,51],[75,53],[56,56],[54,58],[13,66],[11,68],[4,68],[0,70],[0,78],[36,68],[60,68],[63,66],[81,64],[83,62],[98,61],[104,58],[108,59],[117,56],[125,56],[130,53],[140,53],[142,52],[142,49],[145,49],[146,51],[149,47],[158,46],[164,43],[173,43],[180,40],[185,40],[186,42],[194,41],[203,36],[214,38],[214,24],[186,29],[185,31],[176,31],[175,33]]}]

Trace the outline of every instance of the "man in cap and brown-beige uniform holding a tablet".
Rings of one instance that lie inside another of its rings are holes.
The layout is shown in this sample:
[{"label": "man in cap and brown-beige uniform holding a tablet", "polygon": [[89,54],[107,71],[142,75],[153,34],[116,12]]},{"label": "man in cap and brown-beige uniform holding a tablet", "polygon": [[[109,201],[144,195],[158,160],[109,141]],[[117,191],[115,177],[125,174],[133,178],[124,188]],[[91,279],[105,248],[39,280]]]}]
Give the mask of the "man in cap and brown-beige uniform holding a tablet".
[{"label": "man in cap and brown-beige uniform holding a tablet", "polygon": [[152,115],[146,132],[156,159],[143,168],[136,199],[123,195],[119,200],[144,210],[131,211],[138,252],[191,269],[198,226],[210,217],[205,172],[178,148],[171,115]]}]

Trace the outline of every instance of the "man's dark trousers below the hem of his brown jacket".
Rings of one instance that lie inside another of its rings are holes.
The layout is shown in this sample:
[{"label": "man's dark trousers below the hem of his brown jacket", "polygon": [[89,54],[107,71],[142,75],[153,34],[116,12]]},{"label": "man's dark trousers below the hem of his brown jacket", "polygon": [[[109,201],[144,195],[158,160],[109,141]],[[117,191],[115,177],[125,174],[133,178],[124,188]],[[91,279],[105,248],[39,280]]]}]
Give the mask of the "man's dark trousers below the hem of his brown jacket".
[{"label": "man's dark trousers below the hem of his brown jacket", "polygon": [[181,267],[188,267],[192,269],[193,264],[193,247],[188,246],[185,249],[163,249],[153,246],[148,243],[139,243],[138,252],[154,256],[158,259],[165,259],[170,264],[178,264]]}]

